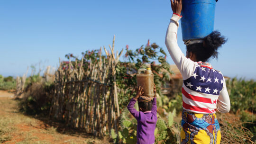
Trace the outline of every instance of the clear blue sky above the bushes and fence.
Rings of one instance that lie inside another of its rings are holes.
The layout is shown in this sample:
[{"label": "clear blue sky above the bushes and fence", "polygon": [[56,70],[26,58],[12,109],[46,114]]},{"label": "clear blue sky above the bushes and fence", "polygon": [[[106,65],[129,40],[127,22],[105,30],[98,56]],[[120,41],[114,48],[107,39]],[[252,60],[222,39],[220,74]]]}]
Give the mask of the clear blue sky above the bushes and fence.
[{"label": "clear blue sky above the bushes and fence", "polygon": [[[219,0],[215,29],[229,41],[211,60],[229,77],[256,79],[256,1]],[[169,0],[1,0],[0,74],[17,76],[27,66],[57,66],[58,58],[112,43],[136,49],[147,40],[166,50],[165,32],[172,16]],[[183,53],[181,28],[178,44]],[[168,55],[169,63],[174,64]],[[38,68],[37,68],[38,70]]]}]

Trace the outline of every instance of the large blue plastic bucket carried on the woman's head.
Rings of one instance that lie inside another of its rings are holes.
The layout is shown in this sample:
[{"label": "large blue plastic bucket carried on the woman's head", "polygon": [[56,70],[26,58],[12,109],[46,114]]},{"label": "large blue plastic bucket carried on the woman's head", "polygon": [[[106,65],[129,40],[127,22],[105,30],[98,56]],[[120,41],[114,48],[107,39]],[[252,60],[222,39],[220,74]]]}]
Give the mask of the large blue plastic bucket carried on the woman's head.
[{"label": "large blue plastic bucket carried on the woman's head", "polygon": [[214,27],[215,0],[182,0],[183,41],[201,39]]}]

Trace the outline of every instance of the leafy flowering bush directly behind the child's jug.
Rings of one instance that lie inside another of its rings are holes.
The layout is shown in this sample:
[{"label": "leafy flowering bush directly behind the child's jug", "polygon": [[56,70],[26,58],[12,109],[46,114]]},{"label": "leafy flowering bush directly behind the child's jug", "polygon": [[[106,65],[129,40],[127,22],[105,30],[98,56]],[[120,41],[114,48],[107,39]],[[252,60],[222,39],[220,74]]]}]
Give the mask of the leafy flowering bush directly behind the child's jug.
[{"label": "leafy flowering bush directly behind the child's jug", "polygon": [[170,80],[170,65],[166,61],[166,53],[163,48],[155,43],[142,45],[135,51],[126,46],[125,62],[117,65],[117,84],[120,89],[119,105],[126,107],[128,99],[135,94],[137,87],[136,73],[139,68],[151,68],[154,73],[154,82],[157,93],[162,96],[161,87],[165,81]]}]

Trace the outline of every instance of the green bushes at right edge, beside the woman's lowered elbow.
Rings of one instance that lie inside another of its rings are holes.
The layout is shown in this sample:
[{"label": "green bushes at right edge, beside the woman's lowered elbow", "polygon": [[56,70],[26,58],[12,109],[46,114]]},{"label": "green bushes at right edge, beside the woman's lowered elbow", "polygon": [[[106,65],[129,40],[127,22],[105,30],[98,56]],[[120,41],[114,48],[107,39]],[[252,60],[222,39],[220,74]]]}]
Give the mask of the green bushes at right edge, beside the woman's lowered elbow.
[{"label": "green bushes at right edge, beside the woman's lowered elbow", "polygon": [[242,126],[256,137],[256,81],[233,78],[226,81],[231,112],[238,114]]}]

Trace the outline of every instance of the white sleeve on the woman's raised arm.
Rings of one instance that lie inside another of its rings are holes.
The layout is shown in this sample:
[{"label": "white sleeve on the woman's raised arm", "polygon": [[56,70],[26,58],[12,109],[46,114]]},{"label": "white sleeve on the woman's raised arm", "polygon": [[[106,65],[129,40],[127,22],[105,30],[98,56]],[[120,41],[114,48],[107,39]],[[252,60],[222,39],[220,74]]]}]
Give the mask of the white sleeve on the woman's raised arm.
[{"label": "white sleeve on the woman's raised arm", "polygon": [[178,69],[180,70],[183,80],[191,77],[192,73],[195,71],[196,62],[191,59],[186,58],[182,53],[180,47],[177,44],[177,31],[179,27],[180,16],[173,14],[171,18],[169,27],[165,36],[165,45]]}]

